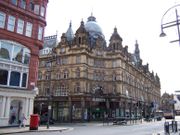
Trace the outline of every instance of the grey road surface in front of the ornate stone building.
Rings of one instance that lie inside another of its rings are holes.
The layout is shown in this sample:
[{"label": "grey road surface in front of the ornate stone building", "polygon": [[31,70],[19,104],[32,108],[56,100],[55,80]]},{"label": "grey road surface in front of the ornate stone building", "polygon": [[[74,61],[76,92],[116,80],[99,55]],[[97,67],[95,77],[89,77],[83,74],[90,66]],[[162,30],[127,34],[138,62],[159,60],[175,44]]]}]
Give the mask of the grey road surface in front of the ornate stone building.
[{"label": "grey road surface in front of the ornate stone building", "polygon": [[128,125],[112,125],[102,123],[81,123],[60,125],[69,127],[63,132],[27,132],[14,135],[152,135],[164,131],[164,121],[143,122]]}]

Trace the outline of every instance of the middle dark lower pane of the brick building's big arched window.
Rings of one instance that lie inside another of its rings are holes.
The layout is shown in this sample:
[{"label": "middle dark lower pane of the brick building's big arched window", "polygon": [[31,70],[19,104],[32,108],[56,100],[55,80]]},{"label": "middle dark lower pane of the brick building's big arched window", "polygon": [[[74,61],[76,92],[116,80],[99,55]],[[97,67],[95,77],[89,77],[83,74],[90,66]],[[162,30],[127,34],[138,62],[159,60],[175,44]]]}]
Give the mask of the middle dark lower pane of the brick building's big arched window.
[{"label": "middle dark lower pane of the brick building's big arched window", "polygon": [[19,86],[19,83],[20,83],[20,73],[16,71],[12,71],[10,77],[10,85]]}]

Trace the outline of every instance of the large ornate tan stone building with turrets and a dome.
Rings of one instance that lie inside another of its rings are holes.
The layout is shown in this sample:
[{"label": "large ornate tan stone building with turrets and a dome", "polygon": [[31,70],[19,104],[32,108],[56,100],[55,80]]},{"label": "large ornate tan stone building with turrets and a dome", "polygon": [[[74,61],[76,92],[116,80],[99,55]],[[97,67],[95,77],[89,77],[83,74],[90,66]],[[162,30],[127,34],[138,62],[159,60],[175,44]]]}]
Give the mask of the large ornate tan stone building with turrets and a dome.
[{"label": "large ornate tan stone building with turrets and a dome", "polygon": [[138,43],[129,53],[122,41],[114,28],[107,46],[92,15],[75,34],[70,23],[52,53],[40,56],[36,112],[50,101],[59,122],[150,115],[160,102],[160,79],[142,65]]}]

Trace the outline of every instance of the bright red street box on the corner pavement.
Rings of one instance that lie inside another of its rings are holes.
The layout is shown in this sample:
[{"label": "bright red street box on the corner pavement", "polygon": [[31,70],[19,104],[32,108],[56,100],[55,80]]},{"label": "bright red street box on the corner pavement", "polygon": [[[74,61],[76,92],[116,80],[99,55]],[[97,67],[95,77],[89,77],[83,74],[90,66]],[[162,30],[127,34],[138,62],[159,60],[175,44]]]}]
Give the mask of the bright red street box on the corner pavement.
[{"label": "bright red street box on the corner pavement", "polygon": [[30,130],[38,130],[39,127],[39,115],[38,114],[32,114],[30,117]]}]

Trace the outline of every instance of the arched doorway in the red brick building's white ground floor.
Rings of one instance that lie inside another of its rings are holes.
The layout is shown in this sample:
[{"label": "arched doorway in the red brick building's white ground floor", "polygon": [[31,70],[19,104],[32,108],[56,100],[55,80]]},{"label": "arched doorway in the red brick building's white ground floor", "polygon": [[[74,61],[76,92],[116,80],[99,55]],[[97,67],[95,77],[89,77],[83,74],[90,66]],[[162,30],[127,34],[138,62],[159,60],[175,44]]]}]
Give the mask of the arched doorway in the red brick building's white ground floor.
[{"label": "arched doorway in the red brick building's white ground floor", "polygon": [[10,104],[9,124],[11,125],[19,124],[21,113],[22,113],[22,101],[12,100]]}]

